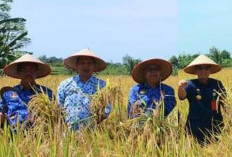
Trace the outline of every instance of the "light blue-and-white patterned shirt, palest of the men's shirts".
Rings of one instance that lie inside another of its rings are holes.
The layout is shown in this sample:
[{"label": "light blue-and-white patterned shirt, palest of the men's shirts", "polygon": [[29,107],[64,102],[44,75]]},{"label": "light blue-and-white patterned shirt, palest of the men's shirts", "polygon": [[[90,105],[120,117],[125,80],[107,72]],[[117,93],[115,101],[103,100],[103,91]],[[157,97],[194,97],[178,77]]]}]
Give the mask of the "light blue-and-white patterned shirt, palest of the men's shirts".
[{"label": "light blue-and-white patterned shirt, palest of the men's shirts", "polygon": [[[91,76],[89,80],[83,83],[79,75],[64,80],[58,87],[58,105],[64,108],[65,119],[73,130],[80,128],[79,124],[86,124],[90,113],[90,95],[97,92],[98,87],[104,88],[105,81]],[[105,109],[108,116],[111,112],[111,105]]]}]

